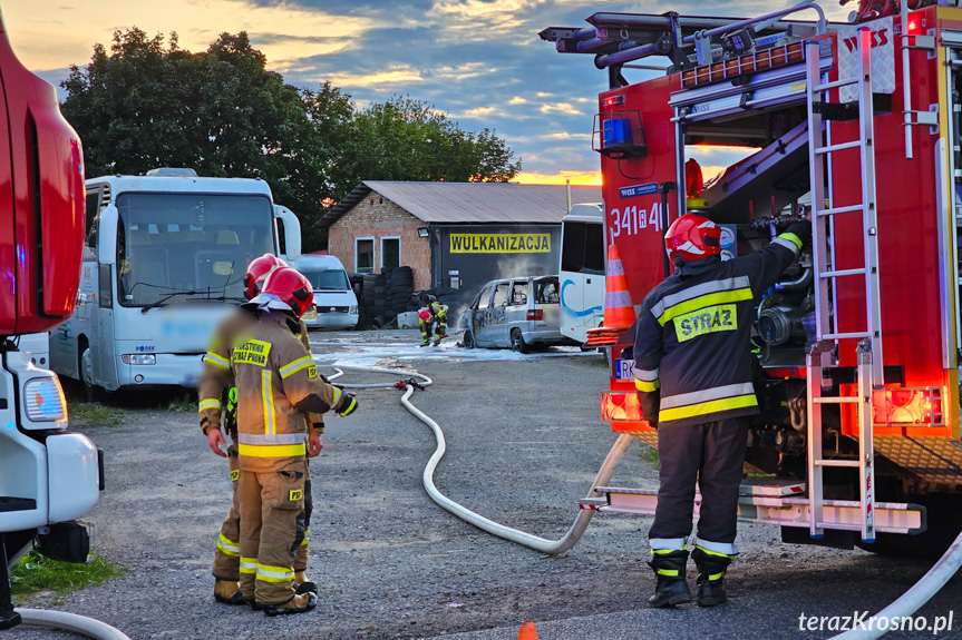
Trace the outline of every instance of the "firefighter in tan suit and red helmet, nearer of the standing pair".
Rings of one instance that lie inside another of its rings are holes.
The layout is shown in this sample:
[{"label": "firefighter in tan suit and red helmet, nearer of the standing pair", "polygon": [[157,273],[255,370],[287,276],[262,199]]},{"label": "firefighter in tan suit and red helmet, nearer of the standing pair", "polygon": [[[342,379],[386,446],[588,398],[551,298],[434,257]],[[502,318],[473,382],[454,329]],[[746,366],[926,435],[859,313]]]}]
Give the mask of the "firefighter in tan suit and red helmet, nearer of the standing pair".
[{"label": "firefighter in tan suit and red helmet, nearer of the standing pair", "polygon": [[319,376],[298,338],[300,317],[313,306],[301,273],[280,267],[244,305],[256,322],[235,339],[231,373],[237,387],[237,500],[243,598],[268,616],[317,605],[298,593],[294,562],[305,536],[308,413],[346,416],[357,400]]}]

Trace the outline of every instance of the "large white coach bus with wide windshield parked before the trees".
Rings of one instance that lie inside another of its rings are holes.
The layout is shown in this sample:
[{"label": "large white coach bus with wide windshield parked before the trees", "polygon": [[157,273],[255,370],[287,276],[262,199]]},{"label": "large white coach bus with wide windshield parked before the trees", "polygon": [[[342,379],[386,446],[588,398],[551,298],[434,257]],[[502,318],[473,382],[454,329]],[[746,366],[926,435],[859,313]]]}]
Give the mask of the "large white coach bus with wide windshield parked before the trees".
[{"label": "large white coach bus with wide windshield parked before the trees", "polygon": [[196,386],[216,323],[243,301],[247,263],[300,257],[301,227],[260,179],[191,169],[87,180],[79,304],[50,332],[50,368],[99,390]]}]

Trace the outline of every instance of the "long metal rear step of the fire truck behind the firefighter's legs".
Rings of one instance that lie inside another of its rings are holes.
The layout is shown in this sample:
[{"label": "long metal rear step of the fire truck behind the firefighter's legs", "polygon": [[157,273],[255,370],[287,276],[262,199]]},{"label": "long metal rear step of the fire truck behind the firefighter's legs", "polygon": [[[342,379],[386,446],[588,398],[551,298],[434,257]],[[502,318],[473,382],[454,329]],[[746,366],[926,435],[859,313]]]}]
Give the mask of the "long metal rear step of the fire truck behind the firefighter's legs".
[{"label": "long metal rear step of the fire truck behind the firefighter's legs", "polygon": [[[778,526],[795,526],[809,529],[812,514],[807,498],[798,495],[759,495],[754,493],[766,483],[777,489],[768,491],[785,491],[785,488],[805,486],[804,483],[786,483],[762,481],[750,489],[741,486],[738,498],[739,522],[756,524],[775,524]],[[604,498],[587,498],[581,501],[581,509],[591,509],[606,513],[628,513],[633,515],[654,515],[658,505],[657,489],[624,489],[615,486],[599,486],[595,491]],[[862,503],[857,500],[824,500],[822,519],[818,529],[839,531],[862,531]],[[694,494],[694,515],[701,509],[701,494]],[[925,531],[927,514],[924,506],[901,502],[877,502],[874,504],[875,531],[888,533],[916,534]]]}]

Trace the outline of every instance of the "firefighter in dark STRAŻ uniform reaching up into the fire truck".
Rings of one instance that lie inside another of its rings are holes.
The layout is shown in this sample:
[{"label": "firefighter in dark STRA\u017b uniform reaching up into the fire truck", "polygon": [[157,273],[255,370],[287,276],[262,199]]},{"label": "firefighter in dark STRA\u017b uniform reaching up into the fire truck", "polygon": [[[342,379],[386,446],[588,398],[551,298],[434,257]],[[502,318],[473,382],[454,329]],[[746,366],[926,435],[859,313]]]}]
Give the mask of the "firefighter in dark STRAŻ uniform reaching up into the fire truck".
[{"label": "firefighter in dark STRA\u017b uniform reaching up into the fire truck", "polygon": [[658,429],[658,506],[649,531],[655,573],[652,607],[691,601],[686,582],[696,483],[701,511],[691,558],[700,607],[726,602],[722,579],[738,554],[738,488],[751,416],[754,301],[775,285],[812,236],[788,227],[759,250],[721,259],[721,230],[700,215],[677,219],[664,237],[674,274],[641,305],[634,377],[644,419]]}]

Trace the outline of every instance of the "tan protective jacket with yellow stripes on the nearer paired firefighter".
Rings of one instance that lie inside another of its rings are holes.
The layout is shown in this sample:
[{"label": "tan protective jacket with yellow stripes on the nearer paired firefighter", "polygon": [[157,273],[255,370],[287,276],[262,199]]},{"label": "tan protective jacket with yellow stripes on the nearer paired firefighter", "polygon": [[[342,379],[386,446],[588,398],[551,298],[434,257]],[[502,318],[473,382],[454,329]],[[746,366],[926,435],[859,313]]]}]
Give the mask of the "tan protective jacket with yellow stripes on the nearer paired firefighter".
[{"label": "tan protective jacket with yellow stripes on the nearer paired firefighter", "polygon": [[283,312],[255,312],[257,322],[234,341],[237,453],[242,471],[279,471],[303,459],[305,413],[337,407],[343,394],[318,376],[314,358]]}]

